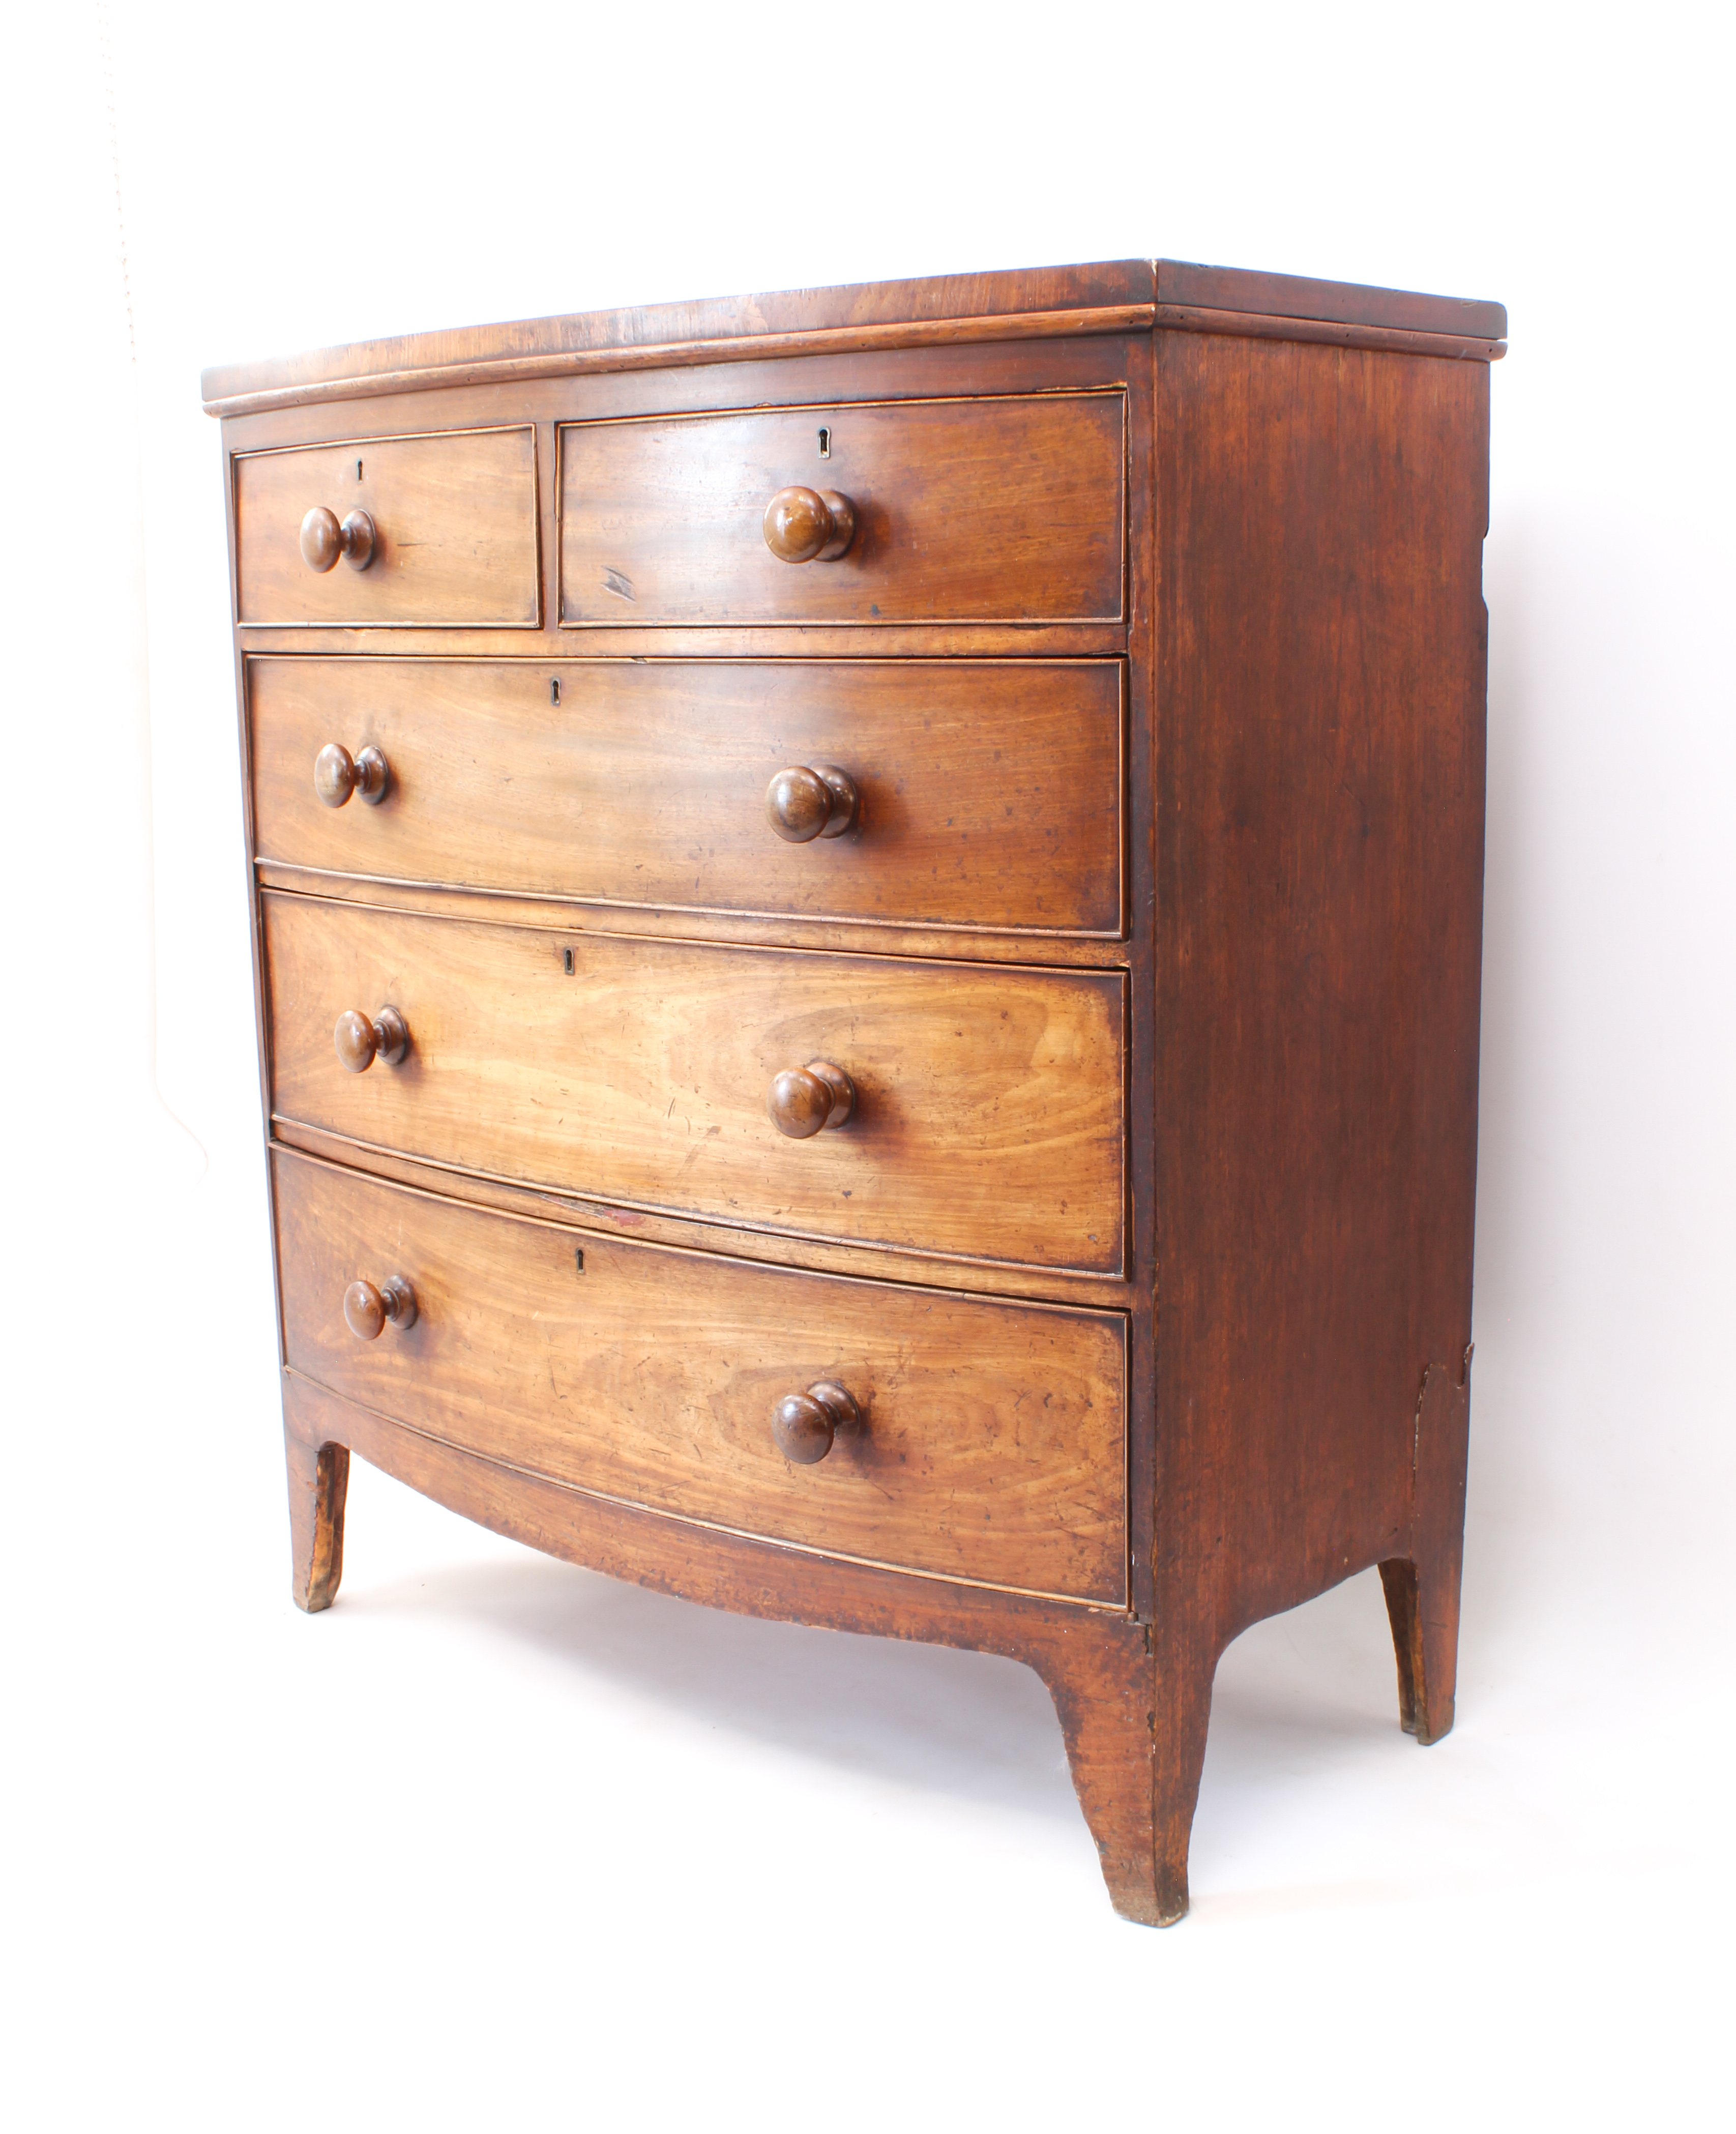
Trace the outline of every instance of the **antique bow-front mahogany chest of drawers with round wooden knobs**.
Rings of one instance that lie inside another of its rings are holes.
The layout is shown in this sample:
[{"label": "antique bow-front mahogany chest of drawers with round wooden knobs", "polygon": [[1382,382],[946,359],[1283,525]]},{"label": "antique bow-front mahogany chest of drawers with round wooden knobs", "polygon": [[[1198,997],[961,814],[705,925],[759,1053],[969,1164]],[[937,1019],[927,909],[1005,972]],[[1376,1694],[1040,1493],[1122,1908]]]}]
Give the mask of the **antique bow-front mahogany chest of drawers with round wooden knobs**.
[{"label": "antique bow-front mahogany chest of drawers with round wooden knobs", "polygon": [[1499,305],[1173,262],[222,416],[292,1590],[350,1453],[1009,1654],[1126,1916],[1380,1564],[1452,1724]]}]

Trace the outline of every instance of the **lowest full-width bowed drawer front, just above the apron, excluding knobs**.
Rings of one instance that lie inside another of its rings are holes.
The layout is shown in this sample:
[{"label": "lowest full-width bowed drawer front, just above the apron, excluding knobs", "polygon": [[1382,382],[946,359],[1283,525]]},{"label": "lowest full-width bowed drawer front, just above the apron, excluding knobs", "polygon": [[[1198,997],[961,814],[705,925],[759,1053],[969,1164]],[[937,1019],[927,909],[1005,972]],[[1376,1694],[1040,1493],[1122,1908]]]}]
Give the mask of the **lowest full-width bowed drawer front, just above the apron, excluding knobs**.
[{"label": "lowest full-width bowed drawer front, just above the apron, excluding knobs", "polygon": [[[488,1214],[284,1152],[294,1370],[452,1445],[825,1554],[1120,1605],[1124,1321],[751,1268]],[[416,1321],[356,1338],[354,1280]],[[862,1411],[813,1466],[789,1394]]]}]

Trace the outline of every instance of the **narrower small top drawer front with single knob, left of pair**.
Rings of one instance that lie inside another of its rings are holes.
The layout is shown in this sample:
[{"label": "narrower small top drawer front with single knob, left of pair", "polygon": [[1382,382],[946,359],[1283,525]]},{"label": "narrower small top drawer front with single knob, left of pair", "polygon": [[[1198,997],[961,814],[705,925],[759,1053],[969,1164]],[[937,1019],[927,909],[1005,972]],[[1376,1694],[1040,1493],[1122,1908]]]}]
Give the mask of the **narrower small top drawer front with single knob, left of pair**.
[{"label": "narrower small top drawer front with single knob, left of pair", "polygon": [[[324,508],[365,512],[373,555],[314,570],[301,525]],[[237,615],[243,623],[535,627],[535,431],[243,452],[235,461]]]}]

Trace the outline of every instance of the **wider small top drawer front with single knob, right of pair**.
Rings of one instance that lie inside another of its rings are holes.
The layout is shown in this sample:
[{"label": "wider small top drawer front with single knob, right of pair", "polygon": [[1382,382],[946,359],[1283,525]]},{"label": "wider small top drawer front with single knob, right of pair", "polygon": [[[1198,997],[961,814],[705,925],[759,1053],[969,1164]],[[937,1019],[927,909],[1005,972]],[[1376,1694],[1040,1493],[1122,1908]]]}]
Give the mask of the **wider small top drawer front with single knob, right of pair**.
[{"label": "wider small top drawer front with single knob, right of pair", "polygon": [[[1120,391],[567,425],[561,621],[1120,621],[1124,427]],[[845,555],[772,555],[791,487],[849,499]]]}]

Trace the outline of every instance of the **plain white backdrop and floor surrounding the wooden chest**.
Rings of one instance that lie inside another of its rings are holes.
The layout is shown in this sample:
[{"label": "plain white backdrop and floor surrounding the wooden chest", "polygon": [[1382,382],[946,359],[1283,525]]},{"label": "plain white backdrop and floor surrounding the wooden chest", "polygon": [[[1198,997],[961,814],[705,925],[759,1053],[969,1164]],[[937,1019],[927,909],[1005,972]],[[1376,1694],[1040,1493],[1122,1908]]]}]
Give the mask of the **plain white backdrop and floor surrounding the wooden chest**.
[{"label": "plain white backdrop and floor surrounding the wooden chest", "polygon": [[[4,90],[17,2123],[1721,2096],[1727,11],[45,13]],[[339,1605],[290,1607],[198,408],[324,341],[1152,252],[1512,316],[1459,1726],[1399,1735],[1371,1575],[1252,1630],[1171,1933],[1113,1918],[1011,1662],[712,1618],[363,1468]]]}]

